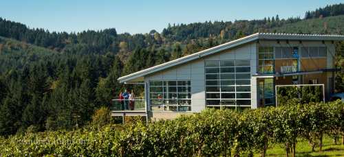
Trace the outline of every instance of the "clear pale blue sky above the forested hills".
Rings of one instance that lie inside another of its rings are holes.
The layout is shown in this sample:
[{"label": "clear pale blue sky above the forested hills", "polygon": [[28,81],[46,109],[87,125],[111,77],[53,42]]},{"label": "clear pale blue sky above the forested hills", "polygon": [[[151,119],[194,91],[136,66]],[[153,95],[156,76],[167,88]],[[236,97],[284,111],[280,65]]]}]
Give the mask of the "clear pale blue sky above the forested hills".
[{"label": "clear pale blue sky above the forested hills", "polygon": [[161,32],[168,23],[235,21],[304,16],[305,11],[344,0],[5,0],[0,17],[57,32],[115,27],[118,33]]}]

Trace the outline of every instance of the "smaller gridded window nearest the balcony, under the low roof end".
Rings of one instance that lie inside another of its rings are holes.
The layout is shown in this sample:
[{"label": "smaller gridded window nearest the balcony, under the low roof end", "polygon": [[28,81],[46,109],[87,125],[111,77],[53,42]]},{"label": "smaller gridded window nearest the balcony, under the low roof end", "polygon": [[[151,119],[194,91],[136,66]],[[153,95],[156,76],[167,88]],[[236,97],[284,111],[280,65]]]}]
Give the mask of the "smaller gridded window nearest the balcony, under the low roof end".
[{"label": "smaller gridded window nearest the balcony, under the low roof end", "polygon": [[151,110],[191,110],[191,81],[151,81],[149,85]]}]

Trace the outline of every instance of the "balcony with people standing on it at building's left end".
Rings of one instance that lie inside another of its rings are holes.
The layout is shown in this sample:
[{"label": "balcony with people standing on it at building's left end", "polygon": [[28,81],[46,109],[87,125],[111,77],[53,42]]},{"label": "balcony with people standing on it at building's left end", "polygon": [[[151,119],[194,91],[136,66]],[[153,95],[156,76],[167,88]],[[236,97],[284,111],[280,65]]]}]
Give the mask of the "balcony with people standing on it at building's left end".
[{"label": "balcony with people standing on it at building's left end", "polygon": [[112,116],[146,116],[146,100],[112,99],[110,110]]}]

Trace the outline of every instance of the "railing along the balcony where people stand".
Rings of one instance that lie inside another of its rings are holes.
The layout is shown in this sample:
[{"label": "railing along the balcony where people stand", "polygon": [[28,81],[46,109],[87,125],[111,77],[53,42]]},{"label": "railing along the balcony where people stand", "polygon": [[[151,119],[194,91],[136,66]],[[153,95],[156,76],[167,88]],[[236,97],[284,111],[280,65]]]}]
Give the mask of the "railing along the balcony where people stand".
[{"label": "railing along the balcony where people stand", "polygon": [[112,99],[111,111],[146,111],[145,99]]}]

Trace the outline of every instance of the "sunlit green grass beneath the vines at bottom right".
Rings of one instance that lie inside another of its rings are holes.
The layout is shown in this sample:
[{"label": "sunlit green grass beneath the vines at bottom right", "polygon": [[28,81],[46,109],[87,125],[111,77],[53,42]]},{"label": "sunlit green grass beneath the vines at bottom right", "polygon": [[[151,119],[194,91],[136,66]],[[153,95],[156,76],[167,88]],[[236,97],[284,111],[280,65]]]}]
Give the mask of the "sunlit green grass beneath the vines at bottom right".
[{"label": "sunlit green grass beneath the vines at bottom right", "polygon": [[[326,136],[323,138],[323,151],[319,152],[319,147],[316,147],[315,152],[312,152],[312,147],[310,147],[308,141],[300,140],[297,143],[296,156],[344,156],[344,145],[341,145],[340,142],[339,139],[337,145],[334,145],[333,139]],[[261,154],[257,153],[255,156],[261,156]],[[271,145],[266,152],[266,156],[286,156],[286,151],[283,145]]]}]

